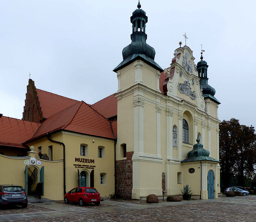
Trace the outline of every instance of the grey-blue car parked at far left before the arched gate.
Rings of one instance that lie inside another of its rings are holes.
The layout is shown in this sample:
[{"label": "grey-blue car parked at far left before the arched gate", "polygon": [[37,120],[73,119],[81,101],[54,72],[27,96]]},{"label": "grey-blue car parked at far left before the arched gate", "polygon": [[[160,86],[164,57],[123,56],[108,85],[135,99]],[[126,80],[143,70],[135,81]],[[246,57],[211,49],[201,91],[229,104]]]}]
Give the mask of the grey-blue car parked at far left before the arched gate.
[{"label": "grey-blue car parked at far left before the arched gate", "polygon": [[22,186],[0,185],[0,206],[21,205],[28,206],[28,198]]}]

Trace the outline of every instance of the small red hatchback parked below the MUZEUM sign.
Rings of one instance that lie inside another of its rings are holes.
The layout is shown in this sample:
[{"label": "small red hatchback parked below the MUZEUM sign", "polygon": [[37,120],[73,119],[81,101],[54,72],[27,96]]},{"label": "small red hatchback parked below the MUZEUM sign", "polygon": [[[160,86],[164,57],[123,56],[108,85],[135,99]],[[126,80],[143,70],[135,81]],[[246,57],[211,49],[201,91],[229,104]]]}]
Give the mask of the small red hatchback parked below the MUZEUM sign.
[{"label": "small red hatchback parked below the MUZEUM sign", "polygon": [[83,206],[84,203],[95,203],[98,206],[100,205],[100,194],[92,187],[76,187],[65,194],[64,202],[66,204],[76,202],[80,206]]}]

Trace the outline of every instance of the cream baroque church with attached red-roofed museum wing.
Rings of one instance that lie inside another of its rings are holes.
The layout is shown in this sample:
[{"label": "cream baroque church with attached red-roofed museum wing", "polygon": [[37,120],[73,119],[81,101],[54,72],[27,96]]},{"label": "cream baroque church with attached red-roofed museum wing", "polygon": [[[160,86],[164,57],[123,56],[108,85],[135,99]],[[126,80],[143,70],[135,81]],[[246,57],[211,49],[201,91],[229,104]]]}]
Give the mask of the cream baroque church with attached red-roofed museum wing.
[{"label": "cream baroque church with attached red-roofed museum wing", "polygon": [[186,184],[196,198],[218,198],[220,102],[208,64],[202,54],[195,64],[185,44],[163,70],[146,43],[140,2],[130,20],[132,42],[113,70],[116,93],[89,105],[29,79],[22,120],[0,117],[3,184],[22,185],[30,195],[42,182],[43,196],[53,200],[76,186],[144,199],[178,195]]}]

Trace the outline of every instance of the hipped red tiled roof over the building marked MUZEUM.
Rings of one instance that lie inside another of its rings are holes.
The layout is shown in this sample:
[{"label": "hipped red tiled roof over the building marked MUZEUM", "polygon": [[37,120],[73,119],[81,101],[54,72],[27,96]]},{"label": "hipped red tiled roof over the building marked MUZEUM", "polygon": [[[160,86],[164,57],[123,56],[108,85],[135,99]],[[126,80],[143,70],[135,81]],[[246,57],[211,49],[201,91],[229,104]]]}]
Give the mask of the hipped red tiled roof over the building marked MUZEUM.
[{"label": "hipped red tiled roof over the building marked MUZEUM", "polygon": [[84,101],[78,102],[47,118],[33,138],[38,138],[46,135],[48,132],[60,129],[114,139],[110,121]]}]

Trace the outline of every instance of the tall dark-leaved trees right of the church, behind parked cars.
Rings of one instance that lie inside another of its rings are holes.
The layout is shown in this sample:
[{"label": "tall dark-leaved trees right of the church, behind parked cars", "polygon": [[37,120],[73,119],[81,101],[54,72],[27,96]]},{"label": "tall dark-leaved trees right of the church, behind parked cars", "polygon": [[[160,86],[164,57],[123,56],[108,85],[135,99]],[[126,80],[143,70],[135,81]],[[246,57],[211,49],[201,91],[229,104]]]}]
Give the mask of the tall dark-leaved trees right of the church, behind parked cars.
[{"label": "tall dark-leaved trees right of the church, behind parked cars", "polygon": [[240,125],[234,118],[220,125],[220,176],[227,187],[233,177],[244,186],[255,173],[256,135],[253,126]]}]

